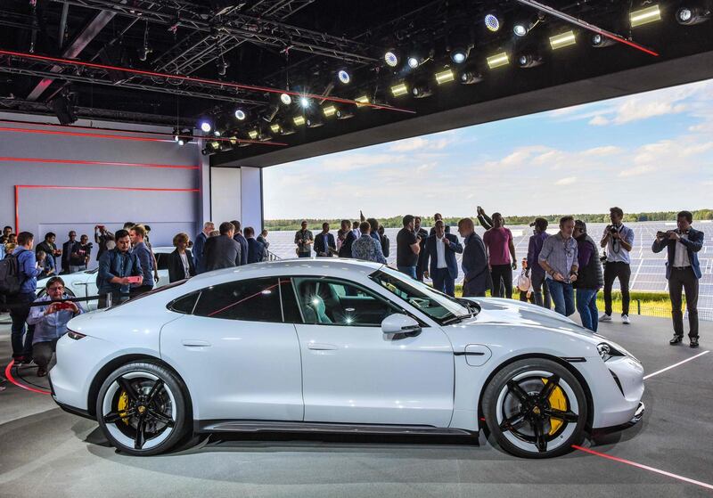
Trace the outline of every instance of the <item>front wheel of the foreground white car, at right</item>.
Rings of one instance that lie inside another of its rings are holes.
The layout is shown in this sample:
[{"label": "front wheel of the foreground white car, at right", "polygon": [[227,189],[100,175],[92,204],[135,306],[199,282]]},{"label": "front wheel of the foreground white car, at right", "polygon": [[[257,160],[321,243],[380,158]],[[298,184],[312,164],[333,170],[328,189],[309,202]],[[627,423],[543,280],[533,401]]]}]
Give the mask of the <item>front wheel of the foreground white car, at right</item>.
[{"label": "front wheel of the foreground white car, at right", "polygon": [[586,435],[584,388],[569,370],[544,358],[498,371],[485,389],[482,409],[497,445],[515,456],[559,456]]}]

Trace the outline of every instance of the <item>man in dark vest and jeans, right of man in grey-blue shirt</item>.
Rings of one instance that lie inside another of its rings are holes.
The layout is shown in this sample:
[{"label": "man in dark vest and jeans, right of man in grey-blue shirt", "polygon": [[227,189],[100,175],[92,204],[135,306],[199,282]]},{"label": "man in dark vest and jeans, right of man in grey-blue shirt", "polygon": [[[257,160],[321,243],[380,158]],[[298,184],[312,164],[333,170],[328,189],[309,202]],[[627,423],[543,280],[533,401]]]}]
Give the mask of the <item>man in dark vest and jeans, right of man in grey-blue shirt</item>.
[{"label": "man in dark vest and jeans, right of man in grey-blue shirt", "polygon": [[599,324],[596,295],[604,285],[602,263],[599,261],[596,244],[586,234],[586,224],[582,220],[574,223],[572,237],[577,241],[579,272],[573,286],[577,292],[577,311],[582,317],[582,325],[596,331]]}]

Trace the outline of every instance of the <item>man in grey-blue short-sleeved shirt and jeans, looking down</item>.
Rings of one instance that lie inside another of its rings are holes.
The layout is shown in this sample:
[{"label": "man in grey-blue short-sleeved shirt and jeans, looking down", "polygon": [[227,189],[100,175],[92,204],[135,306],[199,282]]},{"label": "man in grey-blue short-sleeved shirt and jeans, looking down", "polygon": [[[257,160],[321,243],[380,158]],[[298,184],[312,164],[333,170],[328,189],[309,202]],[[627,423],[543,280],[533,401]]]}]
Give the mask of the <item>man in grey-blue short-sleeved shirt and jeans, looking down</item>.
[{"label": "man in grey-blue short-sleeved shirt and jeans, looking down", "polygon": [[560,232],[542,243],[539,264],[547,273],[547,285],[554,302],[554,311],[565,316],[574,313],[574,289],[579,269],[577,241],[572,237],[574,217],[562,216]]}]

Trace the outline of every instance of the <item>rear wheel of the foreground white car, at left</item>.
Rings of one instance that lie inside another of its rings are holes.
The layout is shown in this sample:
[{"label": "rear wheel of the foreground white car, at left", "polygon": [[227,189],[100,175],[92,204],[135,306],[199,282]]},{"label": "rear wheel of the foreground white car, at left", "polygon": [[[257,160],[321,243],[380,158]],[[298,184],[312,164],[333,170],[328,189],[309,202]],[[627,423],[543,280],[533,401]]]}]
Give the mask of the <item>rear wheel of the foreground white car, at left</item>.
[{"label": "rear wheel of the foreground white car, at left", "polygon": [[127,363],[112,371],[99,389],[96,420],[122,453],[165,453],[184,439],[193,423],[186,398],[183,382],[167,368]]}]

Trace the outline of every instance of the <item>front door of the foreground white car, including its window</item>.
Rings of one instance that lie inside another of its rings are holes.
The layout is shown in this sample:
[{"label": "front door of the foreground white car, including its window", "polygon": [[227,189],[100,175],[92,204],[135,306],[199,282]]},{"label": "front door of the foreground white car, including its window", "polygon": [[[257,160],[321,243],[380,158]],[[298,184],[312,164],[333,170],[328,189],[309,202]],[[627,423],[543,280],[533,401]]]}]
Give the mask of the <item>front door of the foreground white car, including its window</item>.
[{"label": "front door of the foreground white car, including its window", "polygon": [[406,313],[387,298],[339,279],[292,280],[305,421],[448,426],[454,356],[439,327],[384,334],[384,318]]}]

